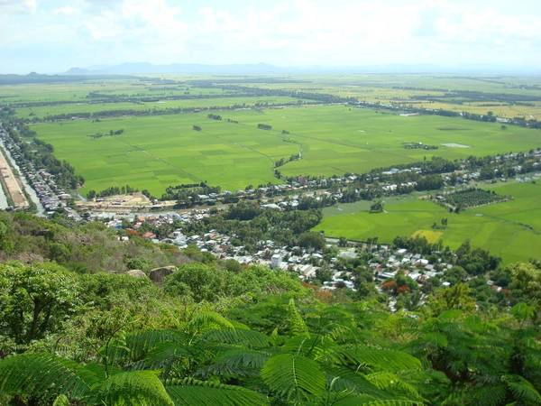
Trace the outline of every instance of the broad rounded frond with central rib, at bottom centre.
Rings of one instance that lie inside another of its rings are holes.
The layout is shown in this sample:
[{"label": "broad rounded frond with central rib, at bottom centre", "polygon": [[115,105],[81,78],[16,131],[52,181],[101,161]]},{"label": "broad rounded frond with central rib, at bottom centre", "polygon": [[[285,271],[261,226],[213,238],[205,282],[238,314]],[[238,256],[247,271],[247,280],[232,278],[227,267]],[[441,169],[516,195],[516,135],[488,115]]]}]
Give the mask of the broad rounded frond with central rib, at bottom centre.
[{"label": "broad rounded frond with central rib, at bottom centre", "polygon": [[325,391],[325,374],[315,361],[302,355],[272,356],[263,365],[261,377],[272,392],[286,399],[301,401]]}]

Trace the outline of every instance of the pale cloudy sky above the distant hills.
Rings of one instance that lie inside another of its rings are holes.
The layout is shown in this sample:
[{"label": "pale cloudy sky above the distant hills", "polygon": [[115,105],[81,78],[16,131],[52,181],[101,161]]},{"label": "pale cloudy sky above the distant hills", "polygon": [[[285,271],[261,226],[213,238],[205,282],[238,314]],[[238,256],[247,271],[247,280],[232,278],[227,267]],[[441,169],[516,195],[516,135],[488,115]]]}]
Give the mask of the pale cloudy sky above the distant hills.
[{"label": "pale cloudy sky above the distant hills", "polygon": [[541,70],[541,1],[0,0],[0,73],[124,62]]}]

